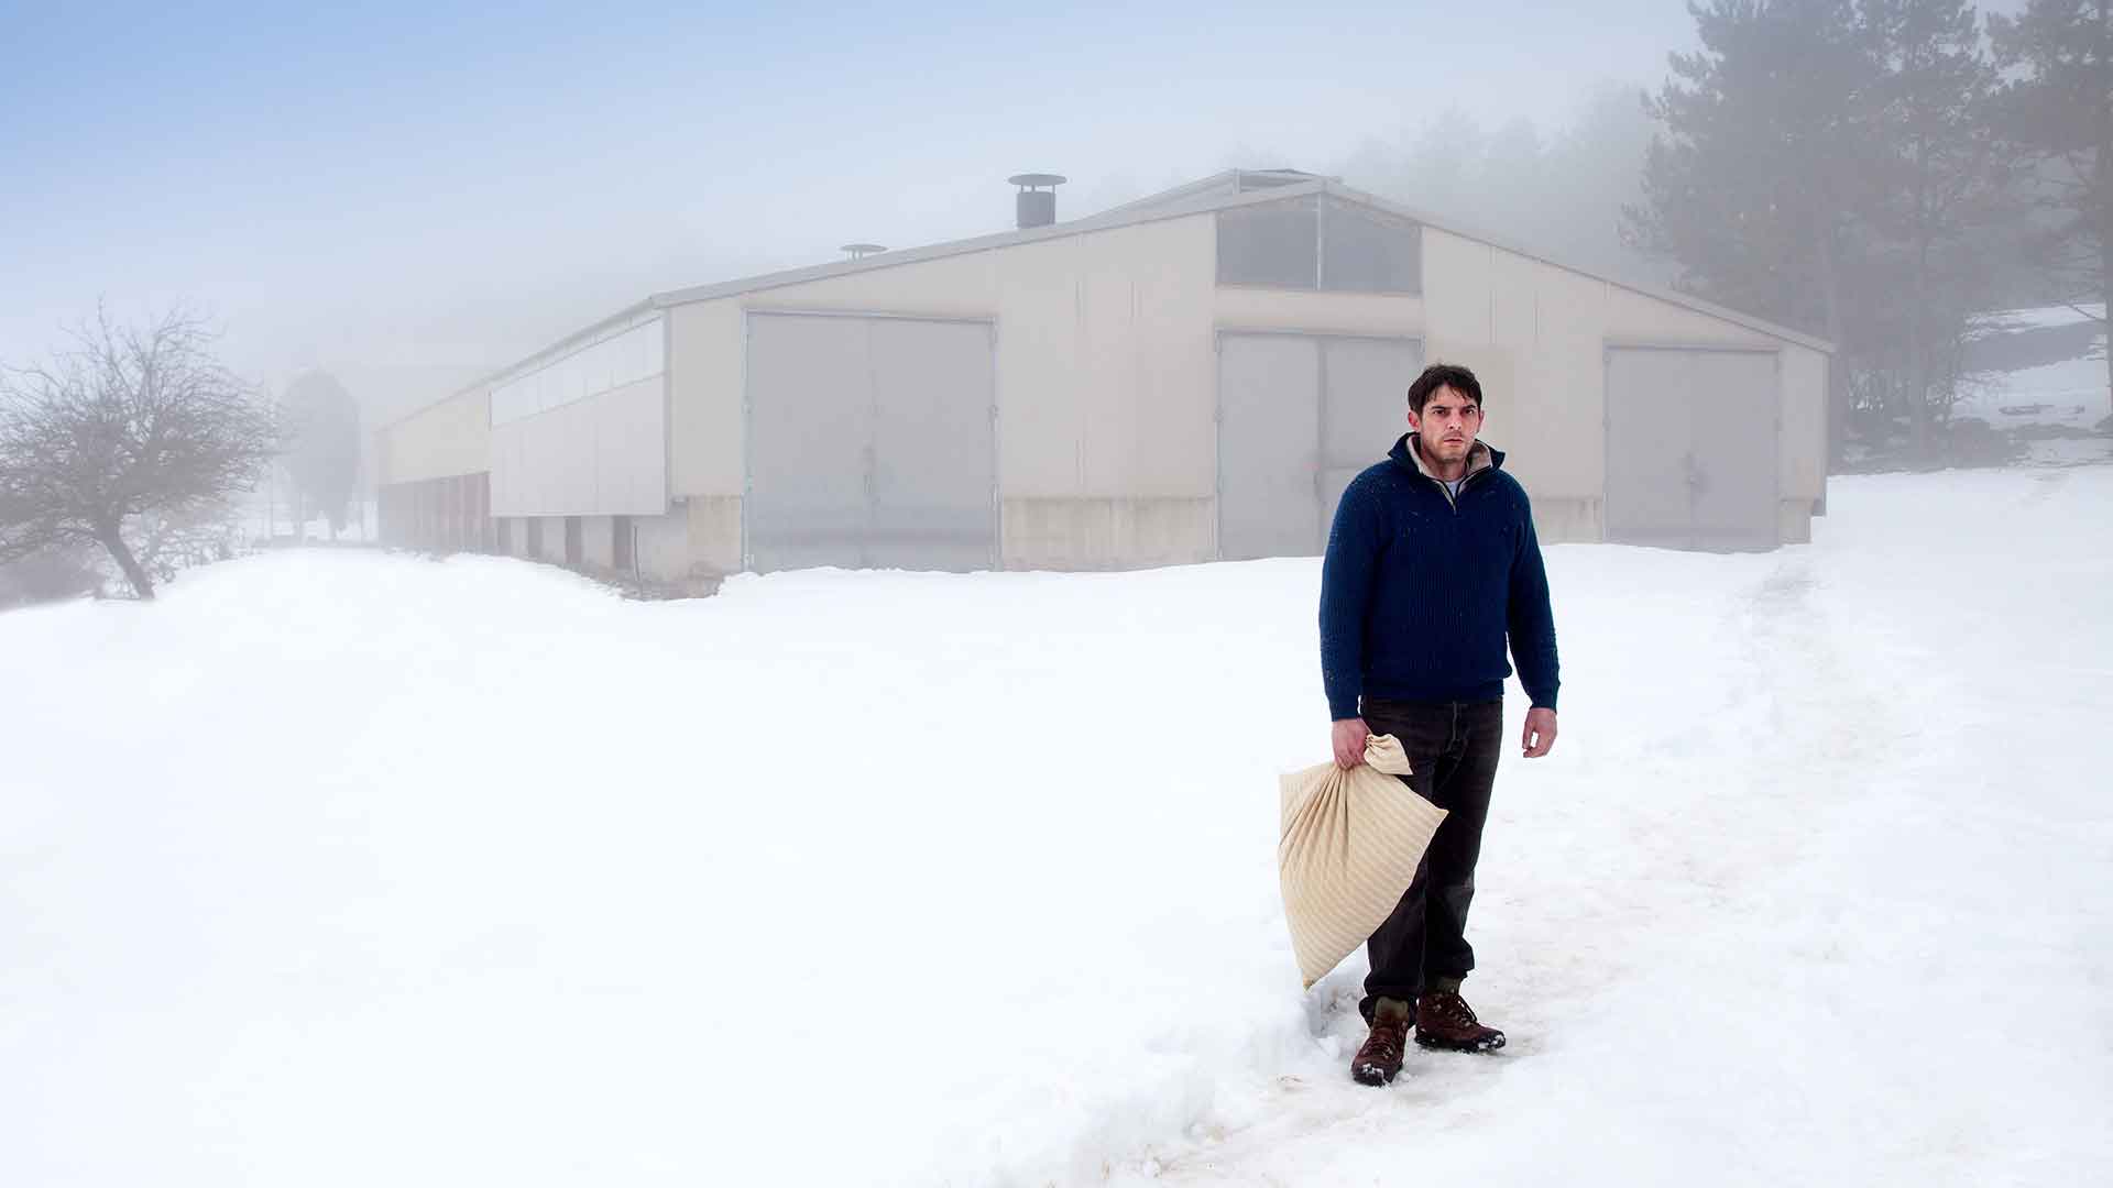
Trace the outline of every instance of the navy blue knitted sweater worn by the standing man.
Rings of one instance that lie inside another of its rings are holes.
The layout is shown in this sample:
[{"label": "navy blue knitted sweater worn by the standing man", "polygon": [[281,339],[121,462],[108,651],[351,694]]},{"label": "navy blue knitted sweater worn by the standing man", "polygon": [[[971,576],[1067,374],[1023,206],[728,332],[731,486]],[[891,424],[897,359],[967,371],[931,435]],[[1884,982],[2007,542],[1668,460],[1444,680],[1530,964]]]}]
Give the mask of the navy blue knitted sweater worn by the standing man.
[{"label": "navy blue knitted sweater worn by the standing man", "polygon": [[[1479,450],[1477,450],[1479,452]],[[1555,615],[1534,512],[1504,454],[1460,497],[1418,469],[1403,435],[1350,480],[1321,567],[1321,683],[1329,717],[1359,698],[1490,702],[1504,695],[1504,638],[1534,706],[1555,708]]]}]

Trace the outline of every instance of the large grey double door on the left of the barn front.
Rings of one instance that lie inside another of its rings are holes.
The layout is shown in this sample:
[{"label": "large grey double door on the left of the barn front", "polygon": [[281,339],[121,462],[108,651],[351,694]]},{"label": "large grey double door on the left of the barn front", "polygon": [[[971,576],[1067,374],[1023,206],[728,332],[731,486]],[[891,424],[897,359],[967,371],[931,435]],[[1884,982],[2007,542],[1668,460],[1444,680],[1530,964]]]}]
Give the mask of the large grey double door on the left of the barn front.
[{"label": "large grey double door on the left of the barn front", "polygon": [[995,397],[989,323],[750,313],[750,564],[995,564]]}]

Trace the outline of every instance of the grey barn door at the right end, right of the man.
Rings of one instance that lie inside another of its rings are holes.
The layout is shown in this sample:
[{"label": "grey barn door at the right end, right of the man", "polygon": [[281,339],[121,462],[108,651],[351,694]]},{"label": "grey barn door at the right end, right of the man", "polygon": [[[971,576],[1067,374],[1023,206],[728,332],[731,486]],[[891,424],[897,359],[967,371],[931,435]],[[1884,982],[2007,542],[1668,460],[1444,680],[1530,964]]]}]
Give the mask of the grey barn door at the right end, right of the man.
[{"label": "grey barn door at the right end, right of the man", "polygon": [[1773,351],[1608,351],[1606,537],[1775,547],[1777,389]]}]

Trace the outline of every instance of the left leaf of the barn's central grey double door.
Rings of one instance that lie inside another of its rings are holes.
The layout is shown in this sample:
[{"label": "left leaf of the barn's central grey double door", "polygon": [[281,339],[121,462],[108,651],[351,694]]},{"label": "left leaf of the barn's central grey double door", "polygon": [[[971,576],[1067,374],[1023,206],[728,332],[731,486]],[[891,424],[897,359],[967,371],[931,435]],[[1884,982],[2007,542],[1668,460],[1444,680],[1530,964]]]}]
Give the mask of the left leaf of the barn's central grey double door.
[{"label": "left leaf of the barn's central grey double door", "polygon": [[1217,351],[1219,556],[1314,556],[1321,347],[1295,334],[1226,334]]}]

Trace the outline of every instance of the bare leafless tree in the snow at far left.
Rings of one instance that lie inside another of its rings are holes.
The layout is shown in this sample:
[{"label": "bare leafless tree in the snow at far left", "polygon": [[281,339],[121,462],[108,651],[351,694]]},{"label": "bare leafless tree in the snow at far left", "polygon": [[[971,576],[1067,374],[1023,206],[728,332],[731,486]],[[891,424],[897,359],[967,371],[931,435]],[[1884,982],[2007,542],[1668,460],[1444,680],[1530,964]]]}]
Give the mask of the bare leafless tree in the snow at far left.
[{"label": "bare leafless tree in the snow at far left", "polygon": [[279,448],[275,416],[171,311],[146,328],[106,311],[51,364],[0,376],[0,560],[101,545],[139,598],[142,547],[249,490]]}]

